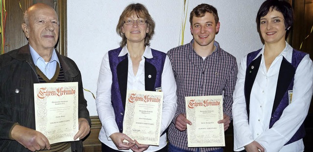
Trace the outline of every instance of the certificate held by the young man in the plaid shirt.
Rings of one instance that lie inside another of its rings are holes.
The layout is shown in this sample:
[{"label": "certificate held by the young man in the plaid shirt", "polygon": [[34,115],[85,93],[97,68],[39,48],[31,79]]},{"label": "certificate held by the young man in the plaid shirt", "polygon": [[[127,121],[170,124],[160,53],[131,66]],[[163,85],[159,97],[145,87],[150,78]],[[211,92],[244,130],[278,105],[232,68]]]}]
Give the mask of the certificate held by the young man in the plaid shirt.
[{"label": "certificate held by the young man in the plaid shirt", "polygon": [[225,146],[223,119],[223,97],[185,97],[186,115],[192,125],[187,125],[188,147]]}]

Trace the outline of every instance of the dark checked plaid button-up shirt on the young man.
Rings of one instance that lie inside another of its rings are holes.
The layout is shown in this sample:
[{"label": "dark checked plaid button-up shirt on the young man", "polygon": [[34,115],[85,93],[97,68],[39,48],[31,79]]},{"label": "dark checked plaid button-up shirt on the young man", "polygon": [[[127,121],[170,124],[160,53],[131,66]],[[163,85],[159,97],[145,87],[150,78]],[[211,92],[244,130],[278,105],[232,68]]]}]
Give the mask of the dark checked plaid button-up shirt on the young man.
[{"label": "dark checked plaid button-up shirt on the young man", "polygon": [[[224,114],[232,119],[233,91],[237,79],[236,58],[225,52],[218,42],[216,49],[203,61],[193,49],[194,40],[175,47],[167,52],[171,61],[177,84],[178,108],[169,126],[169,142],[174,146],[196,152],[197,148],[188,148],[187,131],[175,127],[175,119],[180,113],[186,113],[186,96],[222,95],[224,91]],[[210,152],[220,147],[201,147],[200,152]]]}]

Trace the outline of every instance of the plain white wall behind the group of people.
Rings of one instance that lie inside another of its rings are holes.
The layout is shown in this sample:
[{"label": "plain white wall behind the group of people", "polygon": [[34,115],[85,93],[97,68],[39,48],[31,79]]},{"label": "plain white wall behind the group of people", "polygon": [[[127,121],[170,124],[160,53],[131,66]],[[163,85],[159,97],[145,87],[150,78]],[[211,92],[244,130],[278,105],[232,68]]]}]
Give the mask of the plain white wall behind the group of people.
[{"label": "plain white wall behind the group of people", "polygon": [[[115,27],[123,9],[133,2],[144,4],[156,22],[151,47],[167,52],[179,45],[184,0],[67,0],[67,55],[78,65],[84,88],[94,94],[104,54],[119,47]],[[256,29],[256,13],[264,0],[189,0],[184,43],[192,39],[190,11],[201,3],[218,10],[221,28],[215,40],[233,54],[239,64],[248,52],[262,47]],[[108,86],[110,87],[110,86]],[[98,115],[95,100],[85,92],[90,115]]]}]

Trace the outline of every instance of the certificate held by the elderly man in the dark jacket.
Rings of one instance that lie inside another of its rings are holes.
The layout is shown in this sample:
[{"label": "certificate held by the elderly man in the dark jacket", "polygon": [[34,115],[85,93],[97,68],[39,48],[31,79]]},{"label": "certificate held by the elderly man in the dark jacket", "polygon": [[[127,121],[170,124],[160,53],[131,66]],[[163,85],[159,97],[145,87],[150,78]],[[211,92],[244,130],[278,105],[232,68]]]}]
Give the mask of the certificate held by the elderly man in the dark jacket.
[{"label": "certificate held by the elderly man in the dark jacket", "polygon": [[78,83],[34,84],[34,97],[36,130],[50,144],[73,141],[78,132]]}]

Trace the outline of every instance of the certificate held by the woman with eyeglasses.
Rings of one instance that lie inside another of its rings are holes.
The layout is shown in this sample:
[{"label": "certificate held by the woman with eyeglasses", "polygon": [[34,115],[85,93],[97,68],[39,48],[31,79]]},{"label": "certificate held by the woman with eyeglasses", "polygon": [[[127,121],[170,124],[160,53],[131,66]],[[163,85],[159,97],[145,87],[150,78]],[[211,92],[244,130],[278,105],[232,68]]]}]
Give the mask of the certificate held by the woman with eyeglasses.
[{"label": "certificate held by the woman with eyeglasses", "polygon": [[139,144],[158,146],[162,107],[163,92],[127,90],[123,133]]}]

